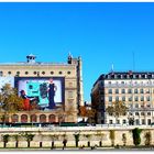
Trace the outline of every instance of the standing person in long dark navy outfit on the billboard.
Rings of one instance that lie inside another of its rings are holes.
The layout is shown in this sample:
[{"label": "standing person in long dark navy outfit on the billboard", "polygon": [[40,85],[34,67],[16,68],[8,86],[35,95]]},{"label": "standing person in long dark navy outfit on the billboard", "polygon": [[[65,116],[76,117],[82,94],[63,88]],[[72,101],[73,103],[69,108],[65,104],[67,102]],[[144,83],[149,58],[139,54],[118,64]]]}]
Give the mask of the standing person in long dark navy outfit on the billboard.
[{"label": "standing person in long dark navy outfit on the billboard", "polygon": [[55,92],[57,90],[57,87],[55,86],[53,78],[50,79],[50,85],[48,85],[48,109],[54,109],[56,107],[55,105]]}]

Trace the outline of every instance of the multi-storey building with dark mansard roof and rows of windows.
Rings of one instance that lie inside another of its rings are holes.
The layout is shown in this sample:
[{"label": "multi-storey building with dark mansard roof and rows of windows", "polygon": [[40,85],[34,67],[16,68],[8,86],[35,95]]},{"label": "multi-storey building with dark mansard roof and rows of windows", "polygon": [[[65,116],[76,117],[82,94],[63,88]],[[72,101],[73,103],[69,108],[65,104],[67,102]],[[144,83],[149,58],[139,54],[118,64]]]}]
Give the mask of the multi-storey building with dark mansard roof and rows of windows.
[{"label": "multi-storey building with dark mansard roof and rows of windows", "polygon": [[[129,108],[118,120],[106,112],[116,101],[123,101]],[[101,75],[92,87],[91,103],[97,110],[97,123],[151,124],[154,122],[154,73],[112,72]]]}]

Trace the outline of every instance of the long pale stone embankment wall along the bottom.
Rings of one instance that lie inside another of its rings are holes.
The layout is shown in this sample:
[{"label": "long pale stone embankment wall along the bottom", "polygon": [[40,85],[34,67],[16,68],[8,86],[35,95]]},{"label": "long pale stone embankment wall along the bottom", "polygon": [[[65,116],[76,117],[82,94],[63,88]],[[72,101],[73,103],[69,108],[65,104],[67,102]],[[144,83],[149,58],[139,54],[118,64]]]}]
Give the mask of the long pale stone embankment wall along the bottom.
[{"label": "long pale stone embankment wall along the bottom", "polygon": [[134,145],[132,138],[132,130],[134,128],[142,129],[141,132],[141,144],[145,145],[145,133],[151,132],[152,141],[151,144],[154,145],[154,128],[153,127],[68,127],[68,128],[1,128],[0,129],[0,147],[3,147],[2,135],[9,134],[9,142],[7,147],[15,147],[14,134],[19,135],[19,147],[26,147],[28,142],[24,134],[34,134],[31,141],[31,147],[40,147],[42,142],[42,147],[51,147],[52,141],[56,147],[63,146],[64,139],[67,140],[67,146],[76,146],[75,134],[79,134],[78,145],[88,146],[88,141],[90,146],[100,144],[102,146],[111,146],[112,142],[110,139],[110,132],[114,132],[114,145],[123,145],[122,135],[125,134],[125,145]]}]

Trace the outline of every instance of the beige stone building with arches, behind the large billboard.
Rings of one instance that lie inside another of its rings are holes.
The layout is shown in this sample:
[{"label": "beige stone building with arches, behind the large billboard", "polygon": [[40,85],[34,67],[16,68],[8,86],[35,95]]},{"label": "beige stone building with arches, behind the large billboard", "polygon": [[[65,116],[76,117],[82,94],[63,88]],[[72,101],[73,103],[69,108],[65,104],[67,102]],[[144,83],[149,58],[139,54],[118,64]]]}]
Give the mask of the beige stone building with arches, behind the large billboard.
[{"label": "beige stone building with arches, behind the large billboard", "polygon": [[[10,116],[8,122],[58,122],[62,119],[64,122],[77,122],[78,108],[84,105],[81,58],[74,58],[72,55],[68,55],[67,63],[57,64],[40,63],[35,62],[35,58],[31,54],[26,56],[25,63],[0,64],[0,78],[62,78],[63,87],[59,96],[63,98],[59,106],[62,105],[64,113],[59,116],[58,109],[40,110],[38,112],[23,111]],[[1,82],[3,82],[2,79]],[[58,96],[56,99],[59,100]],[[73,113],[68,116],[66,112],[70,109]]]}]

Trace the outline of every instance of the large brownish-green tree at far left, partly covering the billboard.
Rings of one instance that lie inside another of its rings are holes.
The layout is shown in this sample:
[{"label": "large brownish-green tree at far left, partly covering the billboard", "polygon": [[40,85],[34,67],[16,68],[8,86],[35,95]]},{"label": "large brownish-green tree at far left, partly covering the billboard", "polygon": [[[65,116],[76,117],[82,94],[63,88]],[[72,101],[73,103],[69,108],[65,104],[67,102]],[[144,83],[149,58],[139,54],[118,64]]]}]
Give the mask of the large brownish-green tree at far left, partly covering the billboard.
[{"label": "large brownish-green tree at far left, partly covering the billboard", "polygon": [[0,111],[1,111],[1,120],[3,123],[7,121],[7,117],[10,113],[14,113],[16,111],[22,110],[23,100],[18,96],[18,90],[12,88],[10,84],[6,84],[1,88],[0,92]]}]

